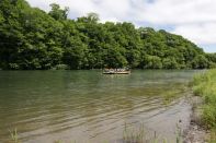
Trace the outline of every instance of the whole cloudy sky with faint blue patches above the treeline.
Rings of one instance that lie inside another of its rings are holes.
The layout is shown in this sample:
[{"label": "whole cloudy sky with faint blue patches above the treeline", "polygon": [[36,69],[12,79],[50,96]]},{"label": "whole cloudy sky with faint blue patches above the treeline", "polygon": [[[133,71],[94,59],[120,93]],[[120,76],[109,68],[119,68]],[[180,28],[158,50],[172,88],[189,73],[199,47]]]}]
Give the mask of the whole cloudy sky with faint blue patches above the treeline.
[{"label": "whole cloudy sky with faint blue patches above the treeline", "polygon": [[49,11],[50,3],[69,7],[69,19],[95,12],[101,22],[132,22],[182,35],[216,52],[216,0],[27,0],[32,7]]}]

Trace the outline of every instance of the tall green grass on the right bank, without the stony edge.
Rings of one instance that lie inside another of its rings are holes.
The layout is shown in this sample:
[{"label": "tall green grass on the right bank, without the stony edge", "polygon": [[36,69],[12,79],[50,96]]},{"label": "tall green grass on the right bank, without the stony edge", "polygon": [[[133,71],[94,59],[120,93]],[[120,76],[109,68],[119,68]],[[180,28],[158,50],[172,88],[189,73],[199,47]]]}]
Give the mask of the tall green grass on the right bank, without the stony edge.
[{"label": "tall green grass on the right bank, without the stony edge", "polygon": [[204,100],[202,105],[202,124],[211,131],[211,141],[216,142],[216,69],[206,71],[194,76],[194,95],[201,96]]}]

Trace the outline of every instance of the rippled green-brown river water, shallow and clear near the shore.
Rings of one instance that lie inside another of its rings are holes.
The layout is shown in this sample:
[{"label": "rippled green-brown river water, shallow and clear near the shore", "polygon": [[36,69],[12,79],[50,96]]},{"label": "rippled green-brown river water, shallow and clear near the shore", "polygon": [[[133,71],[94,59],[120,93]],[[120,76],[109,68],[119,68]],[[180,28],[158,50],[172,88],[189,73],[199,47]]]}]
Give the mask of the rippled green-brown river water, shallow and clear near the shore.
[{"label": "rippled green-brown river water, shallow and clear near the shore", "polygon": [[173,140],[191,107],[184,99],[164,104],[164,96],[186,95],[195,72],[0,71],[0,142],[14,129],[27,143],[118,142],[125,124]]}]

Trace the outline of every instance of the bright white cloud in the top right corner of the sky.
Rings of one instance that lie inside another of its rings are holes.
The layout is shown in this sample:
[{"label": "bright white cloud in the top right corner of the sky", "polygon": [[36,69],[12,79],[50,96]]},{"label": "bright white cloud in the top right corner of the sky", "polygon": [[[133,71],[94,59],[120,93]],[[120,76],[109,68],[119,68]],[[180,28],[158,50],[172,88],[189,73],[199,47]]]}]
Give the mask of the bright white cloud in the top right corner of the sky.
[{"label": "bright white cloud in the top right corner of the sky", "polygon": [[216,22],[215,0],[157,0],[143,11],[139,19],[154,24]]}]

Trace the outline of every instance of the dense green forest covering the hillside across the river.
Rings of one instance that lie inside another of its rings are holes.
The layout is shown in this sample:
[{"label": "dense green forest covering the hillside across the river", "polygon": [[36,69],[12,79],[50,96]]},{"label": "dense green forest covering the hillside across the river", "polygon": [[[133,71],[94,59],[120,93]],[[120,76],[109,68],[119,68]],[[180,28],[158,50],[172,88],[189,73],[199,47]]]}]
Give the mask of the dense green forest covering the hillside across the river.
[{"label": "dense green forest covering the hillside across the river", "polygon": [[69,9],[46,13],[25,0],[0,1],[0,69],[205,69],[215,53],[179,35],[132,23],[100,23],[99,15],[70,20]]}]

